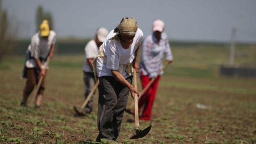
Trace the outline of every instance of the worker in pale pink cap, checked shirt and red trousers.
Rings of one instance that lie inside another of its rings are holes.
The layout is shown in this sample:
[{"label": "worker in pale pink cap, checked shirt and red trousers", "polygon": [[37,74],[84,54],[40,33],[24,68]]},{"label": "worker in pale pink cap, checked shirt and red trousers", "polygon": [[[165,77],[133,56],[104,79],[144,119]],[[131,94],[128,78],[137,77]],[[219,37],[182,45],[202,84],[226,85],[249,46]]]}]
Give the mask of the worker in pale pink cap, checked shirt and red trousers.
[{"label": "worker in pale pink cap, checked shirt and red trousers", "polygon": [[165,55],[166,63],[172,63],[172,52],[169,45],[167,35],[164,33],[165,24],[161,20],[153,22],[153,33],[149,35],[142,45],[140,58],[140,80],[142,88],[147,86],[147,83],[152,78],[156,80],[149,87],[147,92],[143,94],[139,100],[139,111],[144,105],[140,120],[149,121],[151,119],[153,102],[156,96],[160,75],[159,70],[163,67],[162,58]]}]

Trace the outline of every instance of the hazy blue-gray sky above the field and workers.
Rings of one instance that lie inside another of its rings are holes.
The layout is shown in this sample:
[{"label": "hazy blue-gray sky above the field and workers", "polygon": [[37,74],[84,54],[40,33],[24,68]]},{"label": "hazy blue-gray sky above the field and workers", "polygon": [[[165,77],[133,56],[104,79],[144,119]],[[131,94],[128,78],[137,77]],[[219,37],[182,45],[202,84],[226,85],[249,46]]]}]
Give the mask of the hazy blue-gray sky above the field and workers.
[{"label": "hazy blue-gray sky above the field and workers", "polygon": [[58,37],[92,38],[98,27],[135,17],[145,37],[161,19],[172,40],[228,42],[235,27],[237,41],[256,43],[256,0],[3,0],[20,38],[35,33],[39,5],[52,13]]}]

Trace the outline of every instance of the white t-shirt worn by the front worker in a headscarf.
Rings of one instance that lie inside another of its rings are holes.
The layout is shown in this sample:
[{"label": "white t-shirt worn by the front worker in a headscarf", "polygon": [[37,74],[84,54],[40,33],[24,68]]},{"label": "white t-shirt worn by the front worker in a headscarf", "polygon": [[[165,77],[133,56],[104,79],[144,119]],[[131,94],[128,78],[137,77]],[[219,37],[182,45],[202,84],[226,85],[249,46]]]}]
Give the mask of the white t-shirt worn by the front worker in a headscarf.
[{"label": "white t-shirt worn by the front worker in a headscarf", "polygon": [[103,62],[102,57],[98,57],[96,61],[96,68],[98,77],[101,76],[112,76],[112,70],[118,70],[119,67],[123,67],[123,71],[120,72],[124,78],[129,75],[125,72],[126,65],[132,63],[135,57],[135,50],[138,48],[142,38],[143,32],[138,28],[133,39],[132,45],[128,49],[124,49],[119,41],[119,39],[111,40],[115,35],[114,30],[112,30],[106,40],[103,43],[103,51],[106,54],[107,61]]}]

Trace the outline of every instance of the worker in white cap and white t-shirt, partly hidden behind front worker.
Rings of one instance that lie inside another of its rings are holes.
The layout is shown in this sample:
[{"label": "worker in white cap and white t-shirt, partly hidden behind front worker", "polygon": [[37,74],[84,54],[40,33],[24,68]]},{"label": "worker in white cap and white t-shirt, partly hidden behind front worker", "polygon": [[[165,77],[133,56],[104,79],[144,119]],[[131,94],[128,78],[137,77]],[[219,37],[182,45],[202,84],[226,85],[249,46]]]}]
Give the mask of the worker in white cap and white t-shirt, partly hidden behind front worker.
[{"label": "worker in white cap and white t-shirt, partly hidden behind front worker", "polygon": [[[95,85],[96,81],[94,80],[92,61],[93,58],[97,55],[100,45],[102,45],[103,41],[106,39],[109,31],[106,28],[100,27],[97,29],[95,34],[95,38],[90,40],[84,48],[85,51],[85,59],[84,59],[84,98],[86,99],[89,93],[91,92],[92,87]],[[92,100],[90,101],[84,108],[86,113],[91,113],[92,111]]]}]

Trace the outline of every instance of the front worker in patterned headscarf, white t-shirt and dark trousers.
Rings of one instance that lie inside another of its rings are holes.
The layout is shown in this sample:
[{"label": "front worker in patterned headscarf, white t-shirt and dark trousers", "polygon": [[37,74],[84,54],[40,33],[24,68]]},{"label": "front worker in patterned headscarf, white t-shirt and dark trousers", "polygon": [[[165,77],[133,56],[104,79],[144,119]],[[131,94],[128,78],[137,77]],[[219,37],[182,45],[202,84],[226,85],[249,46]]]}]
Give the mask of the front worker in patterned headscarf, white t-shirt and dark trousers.
[{"label": "front worker in patterned headscarf, white t-shirt and dark trousers", "polygon": [[143,32],[134,18],[122,18],[100,46],[93,60],[95,79],[99,78],[97,141],[116,140],[129,92],[139,92],[131,85],[133,67],[138,70],[137,52]]}]

